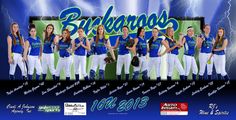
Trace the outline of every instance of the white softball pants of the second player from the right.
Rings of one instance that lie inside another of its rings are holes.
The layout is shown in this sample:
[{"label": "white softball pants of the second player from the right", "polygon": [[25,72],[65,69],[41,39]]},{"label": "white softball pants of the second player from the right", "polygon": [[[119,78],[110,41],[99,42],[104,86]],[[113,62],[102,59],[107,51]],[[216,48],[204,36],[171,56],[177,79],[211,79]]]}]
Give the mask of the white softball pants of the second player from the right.
[{"label": "white softball pants of the second player from the right", "polygon": [[203,76],[206,66],[207,66],[207,75],[212,75],[213,58],[211,59],[211,64],[207,64],[207,61],[210,58],[210,55],[211,53],[199,53],[199,64],[200,64],[199,75],[200,76]]}]

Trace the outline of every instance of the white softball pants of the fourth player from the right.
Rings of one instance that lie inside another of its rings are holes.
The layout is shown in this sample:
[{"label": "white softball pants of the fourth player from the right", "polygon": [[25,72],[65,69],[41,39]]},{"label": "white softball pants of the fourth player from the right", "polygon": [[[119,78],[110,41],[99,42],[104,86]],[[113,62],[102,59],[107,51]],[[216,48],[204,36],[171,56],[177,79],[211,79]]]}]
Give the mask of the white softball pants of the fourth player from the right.
[{"label": "white softball pants of the fourth player from the right", "polygon": [[184,68],[179,61],[178,55],[169,53],[167,58],[167,64],[168,64],[168,73],[167,73],[168,76],[170,77],[172,76],[174,66],[177,68],[179,75],[185,75]]}]

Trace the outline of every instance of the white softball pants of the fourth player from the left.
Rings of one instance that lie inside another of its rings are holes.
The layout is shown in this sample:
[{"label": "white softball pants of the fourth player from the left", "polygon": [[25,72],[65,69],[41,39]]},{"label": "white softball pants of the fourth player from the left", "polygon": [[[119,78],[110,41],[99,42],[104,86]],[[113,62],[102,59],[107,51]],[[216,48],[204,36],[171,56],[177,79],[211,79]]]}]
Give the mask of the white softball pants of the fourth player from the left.
[{"label": "white softball pants of the fourth player from the left", "polygon": [[57,68],[56,68],[56,72],[55,72],[55,76],[60,76],[60,73],[62,71],[62,69],[65,70],[65,75],[66,77],[70,77],[70,66],[71,66],[71,61],[70,61],[70,57],[60,57],[57,63]]}]

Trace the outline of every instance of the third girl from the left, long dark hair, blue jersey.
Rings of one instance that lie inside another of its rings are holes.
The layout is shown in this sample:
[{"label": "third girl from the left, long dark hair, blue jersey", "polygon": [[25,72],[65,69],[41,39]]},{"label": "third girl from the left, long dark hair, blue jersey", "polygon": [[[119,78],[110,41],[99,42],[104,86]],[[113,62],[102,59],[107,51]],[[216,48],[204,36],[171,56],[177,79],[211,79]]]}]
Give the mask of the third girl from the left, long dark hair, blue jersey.
[{"label": "third girl from the left, long dark hair, blue jersey", "polygon": [[54,45],[58,41],[58,36],[54,33],[54,26],[48,24],[43,32],[43,54],[42,54],[42,68],[43,68],[43,80],[46,79],[48,68],[55,80],[55,67],[54,67]]}]

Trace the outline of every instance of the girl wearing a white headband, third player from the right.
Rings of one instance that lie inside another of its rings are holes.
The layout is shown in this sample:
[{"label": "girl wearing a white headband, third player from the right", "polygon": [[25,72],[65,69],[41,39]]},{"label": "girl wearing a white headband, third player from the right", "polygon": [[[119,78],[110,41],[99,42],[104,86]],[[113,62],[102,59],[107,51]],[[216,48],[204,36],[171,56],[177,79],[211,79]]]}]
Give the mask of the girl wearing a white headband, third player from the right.
[{"label": "girl wearing a white headband, third player from the right", "polygon": [[197,79],[197,64],[194,58],[196,41],[194,40],[194,29],[192,26],[187,28],[187,35],[183,37],[182,43],[184,44],[184,70],[185,70],[185,80],[188,79],[190,69],[192,68],[192,79]]}]

